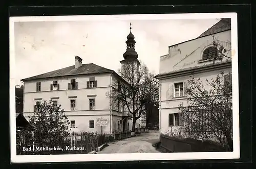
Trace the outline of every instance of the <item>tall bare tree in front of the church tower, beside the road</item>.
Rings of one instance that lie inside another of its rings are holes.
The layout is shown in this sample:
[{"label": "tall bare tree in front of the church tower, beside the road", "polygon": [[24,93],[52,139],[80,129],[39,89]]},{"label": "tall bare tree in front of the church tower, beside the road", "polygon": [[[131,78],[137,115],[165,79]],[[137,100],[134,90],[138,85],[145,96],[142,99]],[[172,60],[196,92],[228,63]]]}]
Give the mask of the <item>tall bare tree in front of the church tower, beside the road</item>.
[{"label": "tall bare tree in front of the church tower, beside the road", "polygon": [[145,104],[158,103],[158,84],[146,65],[138,66],[135,61],[126,63],[118,74],[122,80],[115,80],[112,92],[107,95],[112,106],[119,108],[119,104],[124,104],[125,111],[133,115],[132,130],[135,131],[136,120],[146,113]]}]

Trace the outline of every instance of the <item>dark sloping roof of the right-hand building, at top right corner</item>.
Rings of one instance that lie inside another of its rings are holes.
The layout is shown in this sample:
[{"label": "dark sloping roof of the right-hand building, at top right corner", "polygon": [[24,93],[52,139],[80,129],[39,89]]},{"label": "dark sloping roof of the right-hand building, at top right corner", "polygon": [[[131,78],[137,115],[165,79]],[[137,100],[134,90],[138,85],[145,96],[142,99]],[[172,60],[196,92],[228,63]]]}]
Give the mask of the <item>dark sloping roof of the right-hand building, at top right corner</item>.
[{"label": "dark sloping roof of the right-hand building, at top right corner", "polygon": [[217,22],[214,26],[210,27],[207,31],[202,33],[198,38],[203,36],[208,36],[211,34],[216,34],[223,31],[227,31],[230,29],[231,29],[231,19],[223,18],[219,22]]}]

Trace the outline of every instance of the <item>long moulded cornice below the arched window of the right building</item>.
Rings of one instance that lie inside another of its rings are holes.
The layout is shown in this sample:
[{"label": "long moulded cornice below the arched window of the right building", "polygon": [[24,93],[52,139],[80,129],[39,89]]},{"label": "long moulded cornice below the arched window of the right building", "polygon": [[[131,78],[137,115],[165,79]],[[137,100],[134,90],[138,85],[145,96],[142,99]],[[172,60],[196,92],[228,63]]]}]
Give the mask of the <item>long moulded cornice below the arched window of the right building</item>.
[{"label": "long moulded cornice below the arched window of the right building", "polygon": [[227,60],[226,62],[221,62],[221,63],[208,64],[203,66],[196,66],[196,67],[189,67],[181,70],[175,70],[169,73],[159,74],[155,76],[155,78],[158,80],[164,80],[164,79],[176,78],[181,76],[189,76],[191,74],[200,74],[207,71],[220,70],[225,68],[231,68],[231,60]]}]

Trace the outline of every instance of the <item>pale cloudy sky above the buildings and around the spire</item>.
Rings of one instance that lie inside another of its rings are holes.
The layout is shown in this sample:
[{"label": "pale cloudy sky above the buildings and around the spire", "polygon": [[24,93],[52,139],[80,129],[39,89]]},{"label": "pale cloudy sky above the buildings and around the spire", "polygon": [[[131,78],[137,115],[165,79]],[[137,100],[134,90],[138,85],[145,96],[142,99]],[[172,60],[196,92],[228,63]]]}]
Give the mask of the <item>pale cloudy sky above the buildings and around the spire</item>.
[{"label": "pale cloudy sky above the buildings and around the spire", "polygon": [[94,63],[117,72],[126,36],[135,36],[138,59],[154,74],[168,46],[194,39],[220,19],[83,20],[14,22],[15,83],[75,64]]}]

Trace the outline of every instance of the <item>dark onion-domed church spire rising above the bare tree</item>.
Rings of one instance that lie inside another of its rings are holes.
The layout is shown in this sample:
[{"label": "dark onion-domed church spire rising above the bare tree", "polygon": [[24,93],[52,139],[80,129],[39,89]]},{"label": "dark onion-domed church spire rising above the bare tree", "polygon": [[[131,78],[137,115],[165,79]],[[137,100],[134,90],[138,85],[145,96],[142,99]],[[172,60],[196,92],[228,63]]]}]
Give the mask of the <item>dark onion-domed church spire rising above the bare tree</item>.
[{"label": "dark onion-domed church spire rising above the bare tree", "polygon": [[134,49],[136,41],[134,40],[134,35],[132,34],[132,23],[130,23],[130,34],[127,36],[126,43],[126,52],[123,54],[124,60],[120,61],[122,64],[121,72],[122,74],[127,69],[128,65],[133,63],[137,68],[140,66],[140,62],[137,59],[138,54]]}]

